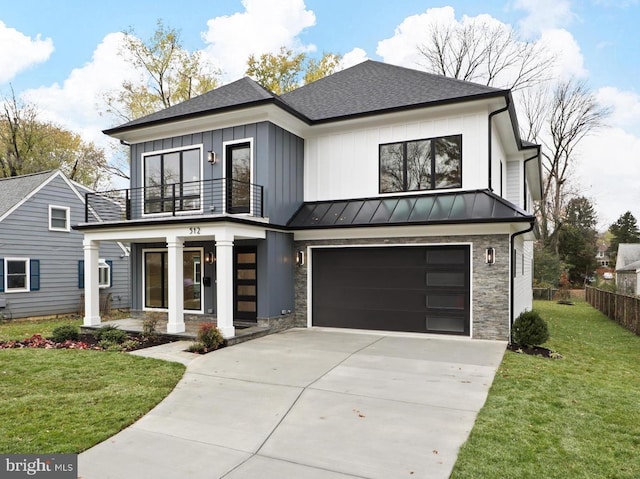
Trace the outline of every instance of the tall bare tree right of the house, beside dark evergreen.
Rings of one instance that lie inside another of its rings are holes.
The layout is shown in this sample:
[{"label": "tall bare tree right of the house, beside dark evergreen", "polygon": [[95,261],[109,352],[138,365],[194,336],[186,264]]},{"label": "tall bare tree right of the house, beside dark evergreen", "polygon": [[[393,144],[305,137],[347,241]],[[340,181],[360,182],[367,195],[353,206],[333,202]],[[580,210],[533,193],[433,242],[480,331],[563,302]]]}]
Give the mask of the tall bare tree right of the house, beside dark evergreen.
[{"label": "tall bare tree right of the house, beside dark evergreen", "polygon": [[525,97],[524,132],[542,145],[543,201],[539,204],[542,239],[556,253],[565,207],[572,197],[569,180],[576,147],[605,124],[610,110],[600,106],[584,81],[567,80]]}]

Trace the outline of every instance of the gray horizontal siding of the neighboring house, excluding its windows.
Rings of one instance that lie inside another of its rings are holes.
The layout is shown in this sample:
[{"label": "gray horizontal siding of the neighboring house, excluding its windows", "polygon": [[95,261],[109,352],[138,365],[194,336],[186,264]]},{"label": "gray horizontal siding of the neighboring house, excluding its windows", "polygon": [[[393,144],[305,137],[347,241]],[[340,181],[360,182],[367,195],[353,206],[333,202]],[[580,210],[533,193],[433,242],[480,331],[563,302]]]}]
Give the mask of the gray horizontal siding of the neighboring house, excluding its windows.
[{"label": "gray horizontal siding of the neighboring house, excluding its windows", "polygon": [[[70,208],[71,225],[84,221],[84,204],[61,178],[49,184],[0,222],[0,258],[40,261],[40,290],[2,292],[14,318],[79,311],[78,262],[83,259],[83,234],[49,231],[49,205]],[[110,292],[113,307],[129,307],[129,258],[116,243],[103,243],[100,258],[113,263]]]}]

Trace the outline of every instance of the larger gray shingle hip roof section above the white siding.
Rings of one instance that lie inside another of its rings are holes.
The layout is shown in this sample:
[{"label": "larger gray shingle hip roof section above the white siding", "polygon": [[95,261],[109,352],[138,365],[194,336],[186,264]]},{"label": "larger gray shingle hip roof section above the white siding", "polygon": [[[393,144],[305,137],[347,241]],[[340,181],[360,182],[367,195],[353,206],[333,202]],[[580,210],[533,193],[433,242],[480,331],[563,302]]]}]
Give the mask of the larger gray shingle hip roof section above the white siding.
[{"label": "larger gray shingle hip roof section above the white siding", "polygon": [[360,116],[507,93],[418,70],[367,60],[281,96],[311,121]]}]

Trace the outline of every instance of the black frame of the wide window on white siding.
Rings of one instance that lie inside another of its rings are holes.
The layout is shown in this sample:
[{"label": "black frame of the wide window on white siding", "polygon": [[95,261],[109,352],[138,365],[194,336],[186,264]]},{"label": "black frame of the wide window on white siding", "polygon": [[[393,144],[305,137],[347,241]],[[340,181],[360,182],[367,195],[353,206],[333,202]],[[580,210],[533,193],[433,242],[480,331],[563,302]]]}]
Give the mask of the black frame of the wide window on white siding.
[{"label": "black frame of the wide window on white siding", "polygon": [[[437,162],[436,162],[436,152],[437,152],[437,142],[438,140],[443,139],[451,139],[456,138],[459,146],[459,182],[456,186],[445,186],[438,187],[438,175],[437,175]],[[408,157],[407,157],[407,148],[410,143],[418,143],[418,142],[430,142],[429,145],[429,159],[430,159],[430,169],[427,173],[427,176],[430,178],[429,184],[425,188],[418,189],[410,189],[408,184],[409,179],[409,167],[408,167]],[[382,150],[384,147],[389,147],[392,145],[399,145],[402,148],[402,188],[400,189],[390,189],[384,190],[382,185]],[[431,191],[431,190],[445,190],[445,189],[457,189],[462,188],[462,134],[458,135],[446,135],[439,136],[433,138],[423,138],[416,140],[405,140],[405,141],[394,141],[391,143],[382,143],[378,146],[378,192],[380,194],[393,194],[393,193],[406,193],[411,191]]]}]

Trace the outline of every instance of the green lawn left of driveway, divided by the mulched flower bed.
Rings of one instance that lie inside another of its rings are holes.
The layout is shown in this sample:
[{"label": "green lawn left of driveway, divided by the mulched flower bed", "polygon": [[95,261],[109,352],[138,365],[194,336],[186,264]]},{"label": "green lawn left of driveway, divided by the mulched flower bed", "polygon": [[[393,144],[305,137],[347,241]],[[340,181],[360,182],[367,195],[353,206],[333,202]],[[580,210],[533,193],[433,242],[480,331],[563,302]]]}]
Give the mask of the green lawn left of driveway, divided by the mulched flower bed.
[{"label": "green lawn left of driveway, divided by the mulched flower bed", "polygon": [[[2,323],[0,340],[47,336],[68,323]],[[0,453],[81,452],[142,417],[184,369],[126,353],[0,350]]]}]

